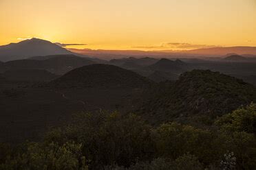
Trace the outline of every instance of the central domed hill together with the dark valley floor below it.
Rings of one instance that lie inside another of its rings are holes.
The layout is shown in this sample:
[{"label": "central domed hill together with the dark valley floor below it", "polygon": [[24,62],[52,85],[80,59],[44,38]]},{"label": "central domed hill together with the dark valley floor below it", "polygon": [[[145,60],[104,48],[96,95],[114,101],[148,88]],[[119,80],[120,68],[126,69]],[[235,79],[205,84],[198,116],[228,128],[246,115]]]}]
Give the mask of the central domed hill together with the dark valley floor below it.
[{"label": "central domed hill together with the dark valley floor below it", "polygon": [[52,85],[47,88],[8,82],[1,76],[0,82],[0,143],[39,140],[49,127],[63,125],[79,112],[130,112],[142,103],[143,87],[151,84],[132,71],[104,64],[83,66],[49,84],[40,83]]}]

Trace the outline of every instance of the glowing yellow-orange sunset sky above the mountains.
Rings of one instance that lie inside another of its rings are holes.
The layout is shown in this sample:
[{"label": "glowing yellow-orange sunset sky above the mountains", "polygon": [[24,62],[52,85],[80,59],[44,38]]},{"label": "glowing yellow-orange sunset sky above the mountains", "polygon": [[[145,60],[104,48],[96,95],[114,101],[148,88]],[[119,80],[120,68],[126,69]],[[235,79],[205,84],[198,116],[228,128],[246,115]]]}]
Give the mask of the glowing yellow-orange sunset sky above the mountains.
[{"label": "glowing yellow-orange sunset sky above the mountains", "polygon": [[68,48],[256,46],[256,0],[0,0],[0,45]]}]

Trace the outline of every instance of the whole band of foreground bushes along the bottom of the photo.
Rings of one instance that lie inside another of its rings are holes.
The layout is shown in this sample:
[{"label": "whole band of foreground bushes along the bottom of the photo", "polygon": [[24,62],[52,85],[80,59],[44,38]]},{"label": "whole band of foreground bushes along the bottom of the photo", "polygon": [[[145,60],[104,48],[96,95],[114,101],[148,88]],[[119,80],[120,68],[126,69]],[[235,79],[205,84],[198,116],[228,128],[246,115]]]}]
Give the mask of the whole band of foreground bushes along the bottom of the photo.
[{"label": "whole band of foreground bushes along the bottom of the photo", "polygon": [[82,113],[40,143],[0,145],[0,169],[253,169],[255,104],[220,117],[215,128],[169,122],[152,127],[136,114]]}]

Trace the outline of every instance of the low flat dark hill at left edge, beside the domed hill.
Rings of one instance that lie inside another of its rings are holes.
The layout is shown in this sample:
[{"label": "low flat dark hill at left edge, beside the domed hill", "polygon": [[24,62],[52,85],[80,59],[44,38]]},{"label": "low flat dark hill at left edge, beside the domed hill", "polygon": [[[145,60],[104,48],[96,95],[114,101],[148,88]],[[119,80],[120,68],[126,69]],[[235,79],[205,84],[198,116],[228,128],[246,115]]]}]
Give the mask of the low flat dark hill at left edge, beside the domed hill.
[{"label": "low flat dark hill at left edge, beside the domed hill", "polygon": [[58,77],[49,71],[38,69],[11,70],[2,73],[2,76],[6,78],[6,80],[22,82],[47,82]]}]

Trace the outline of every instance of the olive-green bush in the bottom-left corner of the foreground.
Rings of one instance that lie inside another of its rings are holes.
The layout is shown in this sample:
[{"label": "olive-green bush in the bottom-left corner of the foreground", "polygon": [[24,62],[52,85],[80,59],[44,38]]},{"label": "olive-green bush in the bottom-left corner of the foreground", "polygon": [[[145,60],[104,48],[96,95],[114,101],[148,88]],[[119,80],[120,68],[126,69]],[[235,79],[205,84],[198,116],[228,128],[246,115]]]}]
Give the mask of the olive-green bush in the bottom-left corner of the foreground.
[{"label": "olive-green bush in the bottom-left corner of the foreground", "polygon": [[81,144],[25,143],[21,152],[9,156],[0,169],[87,170]]}]

